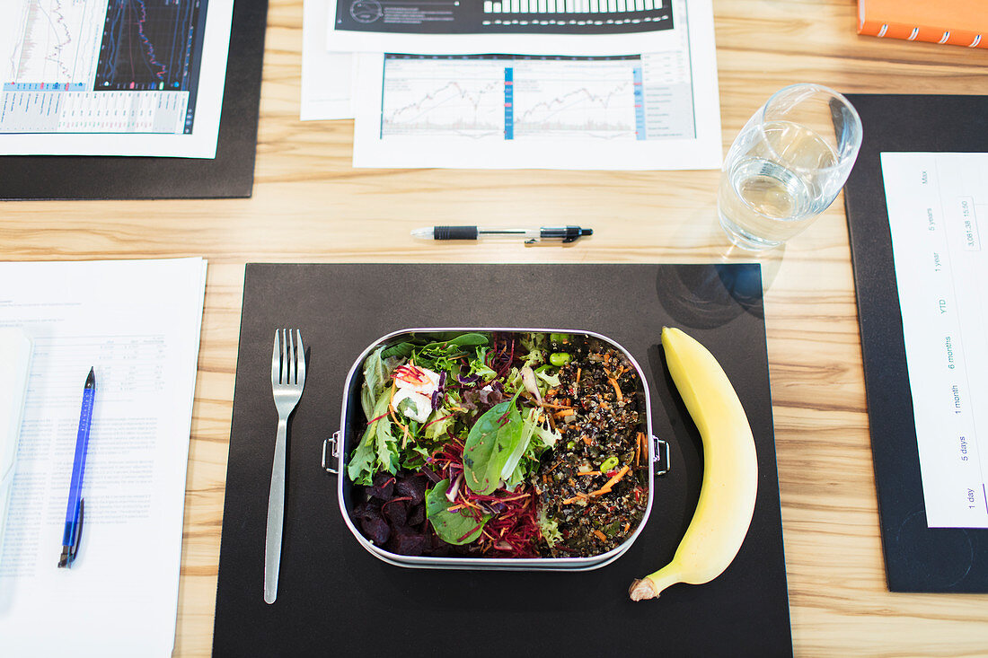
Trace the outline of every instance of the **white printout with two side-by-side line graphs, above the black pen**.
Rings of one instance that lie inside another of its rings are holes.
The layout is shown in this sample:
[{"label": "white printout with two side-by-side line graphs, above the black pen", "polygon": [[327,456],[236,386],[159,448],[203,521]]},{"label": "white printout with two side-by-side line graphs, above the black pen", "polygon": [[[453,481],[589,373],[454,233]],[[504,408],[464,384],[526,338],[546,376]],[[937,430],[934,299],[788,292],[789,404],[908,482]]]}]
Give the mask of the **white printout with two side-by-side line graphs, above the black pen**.
[{"label": "white printout with two side-by-side line graphs, above the black pen", "polygon": [[354,166],[719,168],[710,3],[675,9],[645,54],[362,53]]}]

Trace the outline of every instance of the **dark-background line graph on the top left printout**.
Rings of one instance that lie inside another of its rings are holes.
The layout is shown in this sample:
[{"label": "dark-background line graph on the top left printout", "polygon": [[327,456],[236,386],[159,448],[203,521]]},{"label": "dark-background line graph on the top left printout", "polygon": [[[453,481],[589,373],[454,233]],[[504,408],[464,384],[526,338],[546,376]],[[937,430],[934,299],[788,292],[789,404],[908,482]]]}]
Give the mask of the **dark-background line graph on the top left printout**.
[{"label": "dark-background line graph on the top left printout", "polygon": [[186,89],[193,34],[206,0],[111,0],[95,88]]}]

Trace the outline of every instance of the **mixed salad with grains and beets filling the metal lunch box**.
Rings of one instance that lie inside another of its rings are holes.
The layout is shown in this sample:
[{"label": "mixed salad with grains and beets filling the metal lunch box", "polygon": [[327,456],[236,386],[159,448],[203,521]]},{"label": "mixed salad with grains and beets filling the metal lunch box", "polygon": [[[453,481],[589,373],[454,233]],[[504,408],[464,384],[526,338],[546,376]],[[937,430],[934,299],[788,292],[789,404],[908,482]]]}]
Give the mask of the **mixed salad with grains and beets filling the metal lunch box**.
[{"label": "mixed salad with grains and beets filling the metal lunch box", "polygon": [[584,556],[637,527],[647,446],[622,353],[564,334],[429,337],[364,363],[347,476],[365,536],[408,555]]}]

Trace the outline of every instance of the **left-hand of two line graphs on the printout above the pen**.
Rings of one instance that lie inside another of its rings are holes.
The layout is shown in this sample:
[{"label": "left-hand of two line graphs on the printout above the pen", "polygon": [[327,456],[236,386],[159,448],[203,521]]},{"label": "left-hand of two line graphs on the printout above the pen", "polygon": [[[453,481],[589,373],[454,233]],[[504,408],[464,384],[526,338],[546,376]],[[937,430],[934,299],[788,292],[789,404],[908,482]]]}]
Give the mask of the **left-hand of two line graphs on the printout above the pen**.
[{"label": "left-hand of two line graphs on the printout above the pen", "polygon": [[381,97],[381,138],[456,134],[504,138],[504,65],[453,60],[388,60]]}]

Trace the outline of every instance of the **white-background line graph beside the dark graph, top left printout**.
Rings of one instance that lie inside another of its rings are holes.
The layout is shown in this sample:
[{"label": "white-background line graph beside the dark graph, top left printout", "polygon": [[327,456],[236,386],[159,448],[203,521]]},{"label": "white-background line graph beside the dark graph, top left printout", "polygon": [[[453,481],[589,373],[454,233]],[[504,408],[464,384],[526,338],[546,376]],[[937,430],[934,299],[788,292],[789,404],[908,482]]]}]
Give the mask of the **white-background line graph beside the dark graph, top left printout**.
[{"label": "white-background line graph beside the dark graph, top left printout", "polygon": [[88,85],[106,0],[3,0],[0,56],[8,84]]}]

